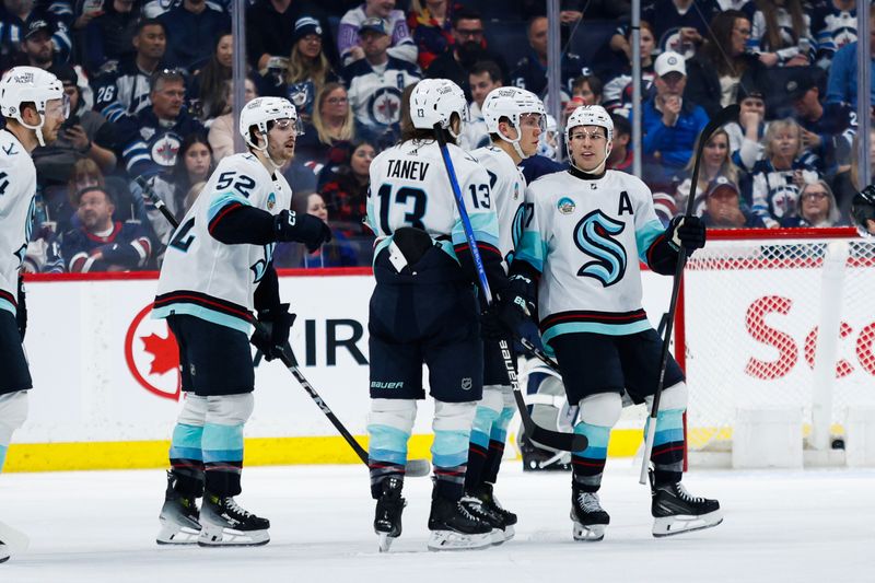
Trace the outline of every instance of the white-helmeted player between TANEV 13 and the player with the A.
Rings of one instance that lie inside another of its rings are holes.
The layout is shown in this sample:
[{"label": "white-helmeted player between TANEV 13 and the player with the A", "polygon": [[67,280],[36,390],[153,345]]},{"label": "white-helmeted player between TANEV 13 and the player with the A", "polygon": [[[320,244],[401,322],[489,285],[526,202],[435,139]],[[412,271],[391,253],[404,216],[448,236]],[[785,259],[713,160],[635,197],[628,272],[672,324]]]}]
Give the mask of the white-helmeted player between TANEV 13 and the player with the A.
[{"label": "white-helmeted player between TANEV 13 and the player with the A", "polygon": [[[491,145],[479,148],[471,155],[486,168],[489,176],[491,202],[499,223],[499,250],[504,257],[506,270],[516,240],[522,234],[521,229],[514,229],[522,228],[518,219],[522,218],[526,188],[518,165],[537,152],[547,114],[544,104],[534,93],[518,88],[492,90],[483,100],[481,110]],[[511,285],[518,283],[521,282],[511,280]],[[525,285],[525,281],[522,283]],[[509,310],[506,315],[511,320],[504,323],[505,326],[515,328],[521,324],[520,310]],[[516,322],[513,318],[517,318]],[[492,490],[504,454],[508,424],[516,410],[499,340],[503,337],[509,340],[508,346],[513,347],[513,338],[502,329],[485,331],[485,336],[493,333],[491,336],[495,338],[483,340],[483,398],[477,405],[474,418],[465,490],[481,502],[469,510],[482,510],[483,517],[495,527],[493,536],[506,540],[513,537],[516,515],[501,508]]]}]

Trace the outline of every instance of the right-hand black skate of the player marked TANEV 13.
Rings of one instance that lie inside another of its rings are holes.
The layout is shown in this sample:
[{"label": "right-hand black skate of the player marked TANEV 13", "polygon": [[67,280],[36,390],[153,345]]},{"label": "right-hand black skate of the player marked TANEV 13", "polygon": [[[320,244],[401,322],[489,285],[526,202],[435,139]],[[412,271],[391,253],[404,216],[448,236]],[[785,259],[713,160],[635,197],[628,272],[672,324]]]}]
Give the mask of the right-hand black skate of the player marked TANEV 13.
[{"label": "right-hand black skate of the player marked TANEV 13", "polygon": [[462,500],[432,494],[429,530],[429,550],[481,549],[492,544],[492,525],[470,513]]}]

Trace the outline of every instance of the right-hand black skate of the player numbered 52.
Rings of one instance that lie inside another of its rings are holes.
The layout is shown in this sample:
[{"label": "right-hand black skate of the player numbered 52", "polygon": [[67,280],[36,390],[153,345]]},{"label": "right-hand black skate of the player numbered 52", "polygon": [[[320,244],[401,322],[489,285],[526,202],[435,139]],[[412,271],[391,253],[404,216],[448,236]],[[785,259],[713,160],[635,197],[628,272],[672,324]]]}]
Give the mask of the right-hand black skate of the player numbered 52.
[{"label": "right-hand black skate of the player numbered 52", "polygon": [[207,492],[200,509],[201,547],[257,547],[267,545],[270,521],[240,508],[231,497]]}]

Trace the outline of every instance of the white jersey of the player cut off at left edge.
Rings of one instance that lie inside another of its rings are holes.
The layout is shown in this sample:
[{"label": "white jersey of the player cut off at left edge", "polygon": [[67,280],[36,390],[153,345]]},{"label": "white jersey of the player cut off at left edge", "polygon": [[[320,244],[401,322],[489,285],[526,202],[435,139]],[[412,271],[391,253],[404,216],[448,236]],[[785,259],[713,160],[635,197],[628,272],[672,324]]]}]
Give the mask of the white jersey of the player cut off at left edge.
[{"label": "white jersey of the player cut off at left edge", "polygon": [[36,168],[27,150],[9,130],[0,130],[0,310],[15,315],[19,269],[34,219]]}]

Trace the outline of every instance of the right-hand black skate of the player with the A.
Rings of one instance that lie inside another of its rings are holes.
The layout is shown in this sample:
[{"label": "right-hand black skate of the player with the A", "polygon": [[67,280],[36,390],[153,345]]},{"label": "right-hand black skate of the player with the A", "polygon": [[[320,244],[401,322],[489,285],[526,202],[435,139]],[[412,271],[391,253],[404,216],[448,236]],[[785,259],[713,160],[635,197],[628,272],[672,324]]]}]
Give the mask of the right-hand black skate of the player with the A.
[{"label": "right-hand black skate of the player with the A", "polygon": [[720,502],[690,495],[680,482],[653,486],[650,473],[653,536],[663,537],[711,528],[723,522]]}]

